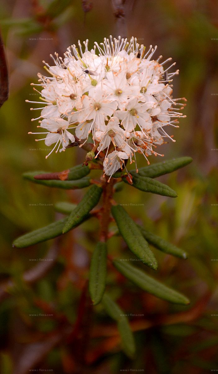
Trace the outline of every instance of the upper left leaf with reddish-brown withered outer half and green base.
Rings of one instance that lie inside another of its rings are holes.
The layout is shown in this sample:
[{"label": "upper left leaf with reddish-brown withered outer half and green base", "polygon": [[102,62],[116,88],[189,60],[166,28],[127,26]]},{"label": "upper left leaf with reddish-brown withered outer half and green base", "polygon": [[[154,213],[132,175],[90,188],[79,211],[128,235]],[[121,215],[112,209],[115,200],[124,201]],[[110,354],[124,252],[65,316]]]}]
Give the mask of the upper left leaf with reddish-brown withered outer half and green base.
[{"label": "upper left leaf with reddish-brown withered outer half and green base", "polygon": [[77,165],[73,168],[56,172],[56,173],[40,173],[34,175],[37,180],[59,180],[59,181],[75,181],[86,177],[90,173],[89,166]]}]

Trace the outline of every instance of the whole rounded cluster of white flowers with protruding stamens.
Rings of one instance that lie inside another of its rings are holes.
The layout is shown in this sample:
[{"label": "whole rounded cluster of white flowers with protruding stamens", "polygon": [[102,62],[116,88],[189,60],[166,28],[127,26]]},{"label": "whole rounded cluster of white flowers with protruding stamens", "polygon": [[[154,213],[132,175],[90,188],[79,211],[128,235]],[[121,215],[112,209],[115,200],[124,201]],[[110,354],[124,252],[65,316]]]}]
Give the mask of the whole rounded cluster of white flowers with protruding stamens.
[{"label": "whole rounded cluster of white flowers with protruding stamens", "polygon": [[69,47],[64,59],[57,53],[51,56],[55,65],[45,64],[51,76],[38,74],[42,102],[31,101],[45,106],[31,109],[42,109],[35,119],[40,119],[38,127],[47,129],[39,134],[47,135],[40,140],[48,146],[55,143],[56,153],[75,139],[82,146],[92,134],[95,157],[100,154],[104,172],[111,176],[125,167],[125,160],[136,162],[137,152],[148,161],[149,155],[157,156],[155,149],[164,138],[173,140],[164,128],[178,127],[178,117],[184,117],[184,104],[172,99],[170,84],[178,70],[169,73],[175,63],[165,69],[163,65],[171,58],[160,64],[162,56],[152,59],[157,46],[146,52],[134,37],[129,42],[105,38],[91,51],[88,40],[83,44],[83,50],[80,42],[79,49]]}]

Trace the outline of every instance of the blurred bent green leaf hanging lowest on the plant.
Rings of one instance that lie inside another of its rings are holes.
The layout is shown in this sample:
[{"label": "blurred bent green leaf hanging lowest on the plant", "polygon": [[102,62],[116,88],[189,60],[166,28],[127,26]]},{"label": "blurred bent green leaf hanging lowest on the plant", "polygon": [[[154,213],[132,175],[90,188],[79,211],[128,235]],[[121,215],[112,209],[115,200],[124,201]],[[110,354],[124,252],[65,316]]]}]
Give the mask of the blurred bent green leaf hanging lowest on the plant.
[{"label": "blurred bent green leaf hanging lowest on the plant", "polygon": [[127,356],[132,358],[135,354],[136,347],[134,336],[130,329],[128,319],[124,315],[123,310],[120,309],[117,303],[115,303],[107,294],[104,294],[102,298],[102,304],[104,305],[104,308],[108,315],[112,319],[117,321],[117,327],[120,333],[123,351]]}]

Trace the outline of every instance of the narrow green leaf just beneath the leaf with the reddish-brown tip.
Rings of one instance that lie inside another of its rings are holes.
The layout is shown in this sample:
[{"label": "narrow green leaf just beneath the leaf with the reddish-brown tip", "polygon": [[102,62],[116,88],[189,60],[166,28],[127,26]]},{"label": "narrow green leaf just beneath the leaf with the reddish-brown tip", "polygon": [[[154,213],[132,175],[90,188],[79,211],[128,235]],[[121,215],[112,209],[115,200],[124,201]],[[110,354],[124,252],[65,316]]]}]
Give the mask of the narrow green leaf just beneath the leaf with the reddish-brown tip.
[{"label": "narrow green leaf just beneath the leaf with the reddish-brown tip", "polygon": [[[42,173],[42,172],[41,172]],[[34,176],[40,174],[40,172],[28,172],[23,174],[23,178],[33,183],[42,184],[43,186],[63,188],[65,190],[75,190],[78,188],[84,188],[90,186],[88,177],[78,179],[75,181],[60,181],[60,180],[38,180]]]}]

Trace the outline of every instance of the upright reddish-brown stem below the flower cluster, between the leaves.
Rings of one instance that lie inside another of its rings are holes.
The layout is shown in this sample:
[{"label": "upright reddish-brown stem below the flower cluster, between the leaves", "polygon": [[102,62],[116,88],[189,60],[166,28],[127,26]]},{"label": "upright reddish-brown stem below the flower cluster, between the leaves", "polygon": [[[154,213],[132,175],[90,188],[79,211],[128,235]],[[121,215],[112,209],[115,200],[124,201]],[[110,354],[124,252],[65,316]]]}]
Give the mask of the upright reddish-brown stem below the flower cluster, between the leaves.
[{"label": "upright reddish-brown stem below the flower cluster, between the leaves", "polygon": [[105,181],[102,183],[103,188],[103,205],[101,208],[101,219],[100,219],[100,241],[106,242],[108,239],[108,226],[110,223],[110,210],[111,203],[114,194],[114,179],[111,178],[110,182],[107,183],[107,177],[105,176]]}]

